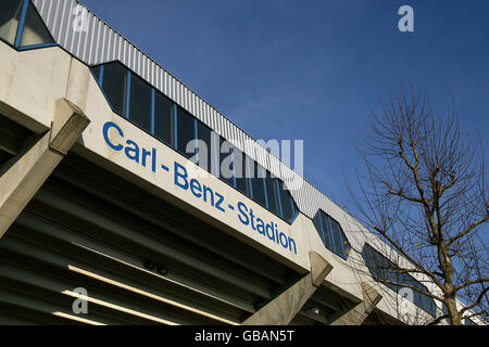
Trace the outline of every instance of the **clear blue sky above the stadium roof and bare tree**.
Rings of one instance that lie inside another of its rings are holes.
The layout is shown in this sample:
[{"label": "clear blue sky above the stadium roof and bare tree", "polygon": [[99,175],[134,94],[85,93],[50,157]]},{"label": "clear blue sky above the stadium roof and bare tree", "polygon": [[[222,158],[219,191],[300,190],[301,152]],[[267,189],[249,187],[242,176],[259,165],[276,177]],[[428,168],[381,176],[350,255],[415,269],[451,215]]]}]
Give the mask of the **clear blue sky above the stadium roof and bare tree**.
[{"label": "clear blue sky above the stadium roof and bare tree", "polygon": [[368,104],[406,78],[453,94],[489,159],[489,1],[82,1],[253,138],[303,139],[305,178],[341,205]]}]

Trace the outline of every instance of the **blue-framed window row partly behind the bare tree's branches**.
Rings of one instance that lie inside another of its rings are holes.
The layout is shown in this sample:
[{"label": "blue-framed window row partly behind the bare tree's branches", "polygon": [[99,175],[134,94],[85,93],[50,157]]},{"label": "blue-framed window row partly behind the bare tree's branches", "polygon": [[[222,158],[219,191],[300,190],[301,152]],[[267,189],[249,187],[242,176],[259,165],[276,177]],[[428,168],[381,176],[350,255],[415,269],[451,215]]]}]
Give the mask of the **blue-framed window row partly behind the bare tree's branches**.
[{"label": "blue-framed window row partly behind the bare tree's branches", "polygon": [[[421,291],[428,292],[426,286],[417,282],[411,274],[399,273],[399,271],[396,271],[396,266],[392,264],[392,261],[384,257],[380,253],[375,250],[368,244],[364,245],[362,250],[362,257],[374,279],[411,285]],[[393,285],[393,284],[386,284],[386,285],[397,293],[399,293],[399,290],[402,288],[401,285]],[[437,316],[437,306],[431,297],[416,291],[413,291],[413,294],[414,294],[414,305],[422,308],[432,317]]]}]

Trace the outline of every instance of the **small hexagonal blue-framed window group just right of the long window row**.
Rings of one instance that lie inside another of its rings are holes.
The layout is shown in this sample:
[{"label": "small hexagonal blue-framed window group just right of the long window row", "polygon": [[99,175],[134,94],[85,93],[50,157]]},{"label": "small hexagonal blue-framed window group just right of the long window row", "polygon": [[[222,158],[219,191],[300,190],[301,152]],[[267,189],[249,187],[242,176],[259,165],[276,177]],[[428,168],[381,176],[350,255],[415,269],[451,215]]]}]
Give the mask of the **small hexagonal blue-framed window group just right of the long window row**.
[{"label": "small hexagonal blue-framed window group just right of the long window row", "polygon": [[321,209],[314,217],[313,222],[326,248],[347,260],[351,246],[341,226]]}]

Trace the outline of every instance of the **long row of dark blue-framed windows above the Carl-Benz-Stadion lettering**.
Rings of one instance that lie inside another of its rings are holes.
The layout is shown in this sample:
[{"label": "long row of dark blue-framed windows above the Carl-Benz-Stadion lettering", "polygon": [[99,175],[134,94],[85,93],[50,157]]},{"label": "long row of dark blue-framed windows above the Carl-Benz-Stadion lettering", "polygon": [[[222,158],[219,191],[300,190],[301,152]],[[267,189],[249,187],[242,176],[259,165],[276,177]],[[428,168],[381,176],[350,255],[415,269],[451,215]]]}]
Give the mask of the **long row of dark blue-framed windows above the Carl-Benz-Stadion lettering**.
[{"label": "long row of dark blue-framed windows above the Carl-Benz-Stadion lettering", "polygon": [[281,219],[299,213],[285,184],[118,62],[92,66],[112,110]]}]

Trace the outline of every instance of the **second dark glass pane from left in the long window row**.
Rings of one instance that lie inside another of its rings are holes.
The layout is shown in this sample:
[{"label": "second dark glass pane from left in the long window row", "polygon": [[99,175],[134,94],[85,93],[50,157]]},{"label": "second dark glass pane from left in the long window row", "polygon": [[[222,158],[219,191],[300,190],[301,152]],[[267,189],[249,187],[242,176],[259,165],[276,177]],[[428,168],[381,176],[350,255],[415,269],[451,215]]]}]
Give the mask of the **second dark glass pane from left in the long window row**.
[{"label": "second dark glass pane from left in the long window row", "polygon": [[151,87],[136,74],[130,75],[129,120],[151,132]]}]

